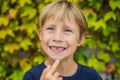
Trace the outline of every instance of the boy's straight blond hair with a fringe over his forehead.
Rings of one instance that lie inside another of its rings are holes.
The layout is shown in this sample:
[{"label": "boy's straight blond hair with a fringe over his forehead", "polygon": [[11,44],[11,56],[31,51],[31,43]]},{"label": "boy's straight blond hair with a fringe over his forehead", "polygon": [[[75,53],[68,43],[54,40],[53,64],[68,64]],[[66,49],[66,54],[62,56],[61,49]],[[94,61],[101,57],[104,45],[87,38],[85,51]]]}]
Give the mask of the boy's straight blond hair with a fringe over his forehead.
[{"label": "boy's straight blond hair with a fringe over his forehead", "polygon": [[45,21],[51,16],[55,16],[57,19],[62,20],[69,19],[70,16],[73,16],[74,20],[79,25],[80,37],[87,32],[88,23],[86,16],[82,10],[73,3],[66,0],[58,0],[57,2],[50,3],[44,7],[39,18],[40,28],[44,26]]}]

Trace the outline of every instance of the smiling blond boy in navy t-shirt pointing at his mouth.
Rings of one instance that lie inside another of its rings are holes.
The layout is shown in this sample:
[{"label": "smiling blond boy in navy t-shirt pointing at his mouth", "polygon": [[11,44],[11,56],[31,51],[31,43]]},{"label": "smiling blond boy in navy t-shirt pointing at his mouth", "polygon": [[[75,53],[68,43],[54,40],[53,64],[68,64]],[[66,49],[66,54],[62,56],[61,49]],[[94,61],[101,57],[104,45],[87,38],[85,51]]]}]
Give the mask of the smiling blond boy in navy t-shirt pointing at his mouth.
[{"label": "smiling blond boy in navy t-shirt pointing at his mouth", "polygon": [[48,59],[26,72],[23,80],[101,80],[95,70],[73,59],[87,31],[81,10],[73,3],[59,0],[43,9],[39,23],[38,35]]}]

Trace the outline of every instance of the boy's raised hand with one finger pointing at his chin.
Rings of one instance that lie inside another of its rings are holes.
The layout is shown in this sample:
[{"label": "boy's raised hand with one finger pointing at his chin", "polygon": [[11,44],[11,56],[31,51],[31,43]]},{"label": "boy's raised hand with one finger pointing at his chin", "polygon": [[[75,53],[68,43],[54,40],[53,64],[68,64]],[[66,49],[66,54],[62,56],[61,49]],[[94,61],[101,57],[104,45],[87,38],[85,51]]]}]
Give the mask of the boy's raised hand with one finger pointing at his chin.
[{"label": "boy's raised hand with one finger pointing at his chin", "polygon": [[56,60],[52,66],[47,66],[47,68],[43,70],[40,80],[63,80],[60,74],[56,72],[59,63],[60,61]]}]

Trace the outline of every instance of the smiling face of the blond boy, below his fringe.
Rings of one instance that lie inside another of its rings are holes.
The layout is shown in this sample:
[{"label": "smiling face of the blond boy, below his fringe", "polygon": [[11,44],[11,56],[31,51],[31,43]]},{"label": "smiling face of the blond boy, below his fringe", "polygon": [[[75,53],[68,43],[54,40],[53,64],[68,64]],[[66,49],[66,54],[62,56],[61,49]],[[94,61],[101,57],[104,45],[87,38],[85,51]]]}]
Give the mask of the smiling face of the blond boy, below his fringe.
[{"label": "smiling face of the blond boy, below his fringe", "polygon": [[73,58],[77,46],[81,44],[79,33],[79,26],[74,20],[51,17],[39,31],[42,49],[53,60]]}]

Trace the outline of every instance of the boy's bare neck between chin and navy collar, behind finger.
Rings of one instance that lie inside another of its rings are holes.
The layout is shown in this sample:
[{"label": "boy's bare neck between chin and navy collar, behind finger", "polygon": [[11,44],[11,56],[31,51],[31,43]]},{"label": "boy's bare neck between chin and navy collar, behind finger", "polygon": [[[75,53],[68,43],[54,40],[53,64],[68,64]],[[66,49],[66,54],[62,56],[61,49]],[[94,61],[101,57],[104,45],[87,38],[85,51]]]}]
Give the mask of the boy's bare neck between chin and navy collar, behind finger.
[{"label": "boy's bare neck between chin and navy collar, behind finger", "polygon": [[[52,65],[54,60],[48,58],[45,61],[45,65]],[[72,66],[72,67],[71,67]],[[61,74],[61,76],[72,76],[77,71],[78,65],[73,59],[63,59],[60,61],[56,71]]]}]

